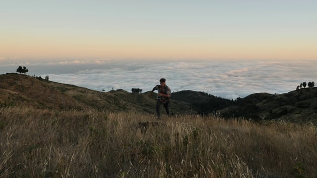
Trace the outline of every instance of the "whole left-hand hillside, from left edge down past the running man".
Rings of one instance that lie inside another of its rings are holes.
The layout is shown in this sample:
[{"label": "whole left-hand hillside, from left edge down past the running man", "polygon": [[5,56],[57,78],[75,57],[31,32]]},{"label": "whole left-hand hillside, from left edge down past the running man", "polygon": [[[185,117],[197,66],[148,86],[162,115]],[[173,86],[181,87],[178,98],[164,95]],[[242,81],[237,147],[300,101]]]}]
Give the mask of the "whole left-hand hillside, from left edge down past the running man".
[{"label": "whole left-hand hillside, from left edge down past the running man", "polygon": [[[149,92],[129,93],[122,89],[101,92],[27,75],[0,75],[0,106],[155,113],[155,104],[156,96],[150,96]],[[194,113],[183,102],[174,101],[172,106],[174,114]]]}]

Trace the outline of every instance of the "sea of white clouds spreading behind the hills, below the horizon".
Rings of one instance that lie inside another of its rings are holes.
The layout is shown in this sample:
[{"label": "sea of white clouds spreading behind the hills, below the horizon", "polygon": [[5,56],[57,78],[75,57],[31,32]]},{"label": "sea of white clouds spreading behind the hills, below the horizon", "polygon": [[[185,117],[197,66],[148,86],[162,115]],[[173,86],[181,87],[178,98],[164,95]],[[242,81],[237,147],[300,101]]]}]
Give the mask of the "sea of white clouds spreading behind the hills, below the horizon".
[{"label": "sea of white clouds spreading behind the hills, below the horizon", "polygon": [[[109,66],[110,65],[110,66]],[[112,67],[111,67],[112,65]],[[252,93],[284,93],[302,82],[315,81],[317,61],[208,61],[125,63],[87,68],[68,74],[45,74],[50,80],[106,91],[153,89],[160,78],[172,91],[205,91],[223,98]],[[43,76],[45,76],[43,75]]]}]

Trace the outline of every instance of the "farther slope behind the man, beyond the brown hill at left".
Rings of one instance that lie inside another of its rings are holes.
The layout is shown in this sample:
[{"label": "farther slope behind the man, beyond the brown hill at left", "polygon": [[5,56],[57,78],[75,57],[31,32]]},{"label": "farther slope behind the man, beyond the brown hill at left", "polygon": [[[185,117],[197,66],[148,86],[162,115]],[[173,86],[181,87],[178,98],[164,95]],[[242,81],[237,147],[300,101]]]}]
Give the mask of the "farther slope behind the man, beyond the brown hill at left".
[{"label": "farther slope behind the man, beyond the brown hill at left", "polygon": [[[49,82],[48,85],[60,90],[63,94],[75,98],[78,102],[91,106],[98,110],[108,111],[137,111],[155,113],[156,95],[150,96],[150,92],[130,93],[123,89],[101,92],[74,85]],[[173,104],[173,103],[172,103]],[[191,111],[186,103],[175,103],[172,112],[184,113],[184,110]],[[191,111],[193,113],[193,111]]]}]

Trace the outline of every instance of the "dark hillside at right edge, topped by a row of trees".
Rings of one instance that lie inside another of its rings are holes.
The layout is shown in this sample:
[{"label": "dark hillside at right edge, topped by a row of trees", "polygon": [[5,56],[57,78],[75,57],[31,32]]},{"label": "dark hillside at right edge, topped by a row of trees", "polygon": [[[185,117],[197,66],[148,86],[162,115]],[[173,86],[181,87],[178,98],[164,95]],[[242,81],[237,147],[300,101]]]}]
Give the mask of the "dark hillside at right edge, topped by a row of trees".
[{"label": "dark hillside at right edge, topped by a row of trees", "polygon": [[254,93],[221,110],[226,117],[283,119],[317,124],[317,88],[283,94]]}]

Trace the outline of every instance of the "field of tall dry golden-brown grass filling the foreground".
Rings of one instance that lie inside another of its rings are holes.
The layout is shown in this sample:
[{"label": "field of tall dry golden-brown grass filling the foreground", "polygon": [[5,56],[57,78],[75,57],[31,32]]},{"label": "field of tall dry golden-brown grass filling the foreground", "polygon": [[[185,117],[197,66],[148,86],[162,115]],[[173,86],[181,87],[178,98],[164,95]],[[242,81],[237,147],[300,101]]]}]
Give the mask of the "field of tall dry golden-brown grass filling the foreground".
[{"label": "field of tall dry golden-brown grass filling the foreground", "polygon": [[1,178],[317,178],[316,165],[309,124],[0,108]]}]

